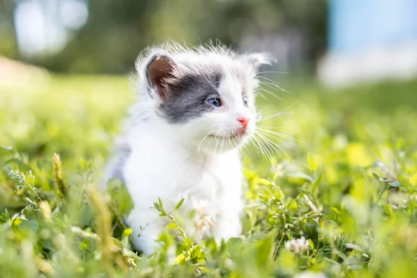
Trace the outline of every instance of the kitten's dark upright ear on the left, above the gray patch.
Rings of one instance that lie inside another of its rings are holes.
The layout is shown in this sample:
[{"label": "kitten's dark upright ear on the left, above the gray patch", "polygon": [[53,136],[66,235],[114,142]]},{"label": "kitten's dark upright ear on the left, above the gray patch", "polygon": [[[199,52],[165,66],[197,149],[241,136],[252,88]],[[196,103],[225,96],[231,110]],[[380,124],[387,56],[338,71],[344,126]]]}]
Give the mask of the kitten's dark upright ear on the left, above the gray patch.
[{"label": "kitten's dark upright ear on the left, above the gray patch", "polygon": [[146,79],[150,88],[156,90],[156,94],[161,100],[165,100],[168,95],[165,81],[172,78],[177,65],[169,54],[159,52],[153,54],[146,66]]}]

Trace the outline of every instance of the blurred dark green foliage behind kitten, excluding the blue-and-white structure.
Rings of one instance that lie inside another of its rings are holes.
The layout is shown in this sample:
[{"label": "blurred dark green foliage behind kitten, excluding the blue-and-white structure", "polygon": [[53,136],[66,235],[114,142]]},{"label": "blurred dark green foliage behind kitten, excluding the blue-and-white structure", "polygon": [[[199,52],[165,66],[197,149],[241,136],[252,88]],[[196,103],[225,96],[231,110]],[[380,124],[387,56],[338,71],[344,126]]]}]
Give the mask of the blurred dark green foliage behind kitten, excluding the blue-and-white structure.
[{"label": "blurred dark green foliage behind kitten, excluding the blue-and-white structure", "polygon": [[269,51],[311,70],[326,49],[326,1],[2,0],[0,54],[54,72],[125,74],[167,39]]}]

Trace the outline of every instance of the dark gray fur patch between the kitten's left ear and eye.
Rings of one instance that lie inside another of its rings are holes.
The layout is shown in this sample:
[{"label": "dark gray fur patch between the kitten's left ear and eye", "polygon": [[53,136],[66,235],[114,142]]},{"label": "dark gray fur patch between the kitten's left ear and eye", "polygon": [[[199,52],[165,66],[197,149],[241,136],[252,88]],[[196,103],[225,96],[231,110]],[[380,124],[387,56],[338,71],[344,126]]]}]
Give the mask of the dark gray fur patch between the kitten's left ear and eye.
[{"label": "dark gray fur patch between the kitten's left ear and eye", "polygon": [[224,73],[220,65],[188,67],[179,76],[166,81],[168,97],[158,107],[158,113],[172,124],[180,124],[213,111],[209,97],[220,97],[218,86]]}]

